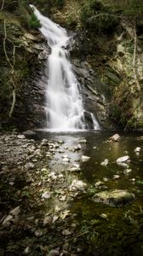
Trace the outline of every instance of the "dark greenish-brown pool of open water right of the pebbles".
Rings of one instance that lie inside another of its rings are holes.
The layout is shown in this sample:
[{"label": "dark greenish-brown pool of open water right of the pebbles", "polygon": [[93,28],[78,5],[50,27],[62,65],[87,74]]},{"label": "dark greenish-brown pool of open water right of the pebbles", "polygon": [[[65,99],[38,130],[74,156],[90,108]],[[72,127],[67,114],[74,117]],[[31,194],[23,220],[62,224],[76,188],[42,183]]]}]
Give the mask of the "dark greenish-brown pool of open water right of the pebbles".
[{"label": "dark greenish-brown pool of open water right of the pebbles", "polygon": [[[72,212],[88,251],[85,255],[143,255],[143,136],[140,133],[119,132],[121,140],[108,141],[112,131],[86,131],[73,133],[37,132],[37,139],[63,141],[60,152],[56,152],[49,166],[51,170],[62,172],[78,163],[81,172],[69,173],[87,183],[88,193],[80,194],[67,205]],[[87,143],[82,143],[86,140]],[[78,144],[81,149],[72,150]],[[140,147],[140,153],[134,149]],[[69,162],[63,163],[67,154]],[[81,160],[82,155],[90,159]],[[129,155],[127,166],[117,165],[117,159]],[[107,166],[101,162],[109,160]],[[129,170],[127,172],[127,170]],[[97,182],[103,187],[96,187]],[[126,189],[134,193],[134,201],[123,207],[111,207],[92,200],[94,193],[102,190]],[[82,235],[83,234],[83,235]]]}]

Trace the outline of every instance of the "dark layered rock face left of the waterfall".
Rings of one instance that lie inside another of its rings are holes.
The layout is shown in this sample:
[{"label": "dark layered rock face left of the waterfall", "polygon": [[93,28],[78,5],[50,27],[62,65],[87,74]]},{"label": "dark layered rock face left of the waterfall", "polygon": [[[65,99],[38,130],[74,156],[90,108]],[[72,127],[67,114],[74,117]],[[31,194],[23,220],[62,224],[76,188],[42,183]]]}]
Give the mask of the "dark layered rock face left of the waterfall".
[{"label": "dark layered rock face left of the waterfall", "polygon": [[[15,11],[15,10],[14,10]],[[28,17],[30,13],[23,7]],[[45,84],[43,73],[45,61],[49,55],[49,49],[43,35],[37,29],[29,29],[20,23],[17,16],[9,14],[6,20],[6,32],[9,40],[6,40],[6,49],[9,62],[6,60],[3,51],[3,31],[0,30],[2,52],[0,63],[0,127],[7,125],[16,126],[20,130],[43,127],[45,122],[44,97]],[[28,18],[27,18],[28,19]],[[11,42],[9,45],[9,41]],[[14,48],[15,45],[15,49]],[[13,56],[14,53],[14,56]],[[14,63],[12,62],[14,58]],[[13,81],[13,82],[12,82]],[[13,102],[13,89],[15,88],[14,111],[9,117],[10,108]],[[19,120],[19,122],[17,122]]]}]

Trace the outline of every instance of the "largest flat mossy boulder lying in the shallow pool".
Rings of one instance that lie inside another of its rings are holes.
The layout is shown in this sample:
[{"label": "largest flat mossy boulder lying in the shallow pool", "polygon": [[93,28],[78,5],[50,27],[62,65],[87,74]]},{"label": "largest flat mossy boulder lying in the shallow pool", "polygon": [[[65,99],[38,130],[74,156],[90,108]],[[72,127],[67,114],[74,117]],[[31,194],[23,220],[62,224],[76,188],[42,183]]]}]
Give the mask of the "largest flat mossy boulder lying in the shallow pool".
[{"label": "largest flat mossy boulder lying in the shallow pool", "polygon": [[126,190],[102,191],[93,196],[93,201],[111,206],[123,206],[134,200],[134,194]]}]

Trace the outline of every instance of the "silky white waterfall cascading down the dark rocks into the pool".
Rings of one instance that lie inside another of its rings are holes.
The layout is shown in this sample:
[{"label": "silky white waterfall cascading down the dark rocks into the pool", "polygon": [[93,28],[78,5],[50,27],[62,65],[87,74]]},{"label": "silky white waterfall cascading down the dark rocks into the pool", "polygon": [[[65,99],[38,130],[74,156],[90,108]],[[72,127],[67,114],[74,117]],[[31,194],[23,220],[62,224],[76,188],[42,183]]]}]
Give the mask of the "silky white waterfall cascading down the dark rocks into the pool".
[{"label": "silky white waterfall cascading down the dark rocks into the pool", "polygon": [[[88,129],[89,125],[84,118],[83,98],[79,94],[80,84],[72,71],[72,64],[66,49],[70,38],[64,28],[41,15],[33,5],[31,8],[37,19],[40,20],[42,25],[40,31],[51,48],[48,58],[48,129],[52,131]],[[98,130],[99,125],[94,119],[94,115],[90,113],[90,116],[94,129]]]}]

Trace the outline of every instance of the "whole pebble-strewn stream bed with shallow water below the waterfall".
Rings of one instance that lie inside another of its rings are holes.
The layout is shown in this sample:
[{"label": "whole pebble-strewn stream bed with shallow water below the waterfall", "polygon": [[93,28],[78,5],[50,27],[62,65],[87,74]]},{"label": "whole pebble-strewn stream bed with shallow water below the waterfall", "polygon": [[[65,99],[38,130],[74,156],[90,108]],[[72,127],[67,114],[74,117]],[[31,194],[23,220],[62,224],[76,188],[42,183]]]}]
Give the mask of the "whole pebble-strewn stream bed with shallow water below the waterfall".
[{"label": "whole pebble-strewn stream bed with shallow water below the waterfall", "polygon": [[143,136],[113,134],[1,135],[0,255],[143,255]]}]

